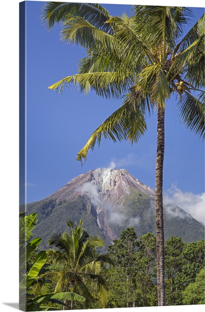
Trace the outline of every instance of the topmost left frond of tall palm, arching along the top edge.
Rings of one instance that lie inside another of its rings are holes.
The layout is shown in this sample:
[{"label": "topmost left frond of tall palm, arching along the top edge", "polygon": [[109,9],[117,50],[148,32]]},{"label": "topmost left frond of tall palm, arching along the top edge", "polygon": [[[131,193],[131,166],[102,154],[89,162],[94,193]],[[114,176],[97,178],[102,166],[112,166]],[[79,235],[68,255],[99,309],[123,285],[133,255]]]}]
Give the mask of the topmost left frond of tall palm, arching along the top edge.
[{"label": "topmost left frond of tall palm, arching along the top edge", "polygon": [[105,22],[110,14],[98,3],[46,2],[42,8],[41,21],[50,30],[57,23],[65,22],[69,15],[82,17],[105,31],[108,29]]}]

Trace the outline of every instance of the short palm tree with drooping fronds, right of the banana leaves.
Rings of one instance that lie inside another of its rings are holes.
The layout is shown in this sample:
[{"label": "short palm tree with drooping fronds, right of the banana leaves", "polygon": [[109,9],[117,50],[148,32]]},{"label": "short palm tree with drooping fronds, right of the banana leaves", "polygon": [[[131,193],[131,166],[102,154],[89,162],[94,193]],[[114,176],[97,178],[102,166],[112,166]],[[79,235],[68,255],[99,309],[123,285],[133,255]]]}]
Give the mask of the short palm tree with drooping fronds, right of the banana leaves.
[{"label": "short palm tree with drooping fronds, right of the banana leaves", "polygon": [[[82,219],[79,226],[72,221],[66,221],[70,233],[54,233],[48,241],[48,245],[57,248],[48,249],[48,263],[52,263],[54,271],[46,272],[43,276],[57,279],[55,293],[59,291],[84,294],[84,305],[93,299],[100,298],[102,305],[107,300],[105,282],[100,276],[100,271],[105,265],[112,265],[108,256],[97,255],[96,247],[103,247],[104,241],[100,236],[89,237],[88,232],[82,228]],[[64,303],[67,305],[68,300]],[[71,300],[71,310],[74,309],[74,301]],[[66,306],[63,307],[66,310]]]}]

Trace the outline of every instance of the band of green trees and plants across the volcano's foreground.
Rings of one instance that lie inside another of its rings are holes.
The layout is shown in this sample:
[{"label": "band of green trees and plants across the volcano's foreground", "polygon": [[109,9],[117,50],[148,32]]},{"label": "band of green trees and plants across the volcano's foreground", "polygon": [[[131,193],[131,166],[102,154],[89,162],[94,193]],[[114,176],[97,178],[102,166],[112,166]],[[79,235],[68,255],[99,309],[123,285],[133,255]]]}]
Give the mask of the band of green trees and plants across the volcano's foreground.
[{"label": "band of green trees and plants across the volcano's foreground", "polygon": [[[20,265],[26,264],[25,272],[20,271],[20,310],[157,305],[153,233],[138,238],[128,227],[100,254],[102,239],[89,236],[83,220],[79,225],[67,221],[68,232],[51,234],[52,248],[38,251],[41,239],[33,239],[31,231],[36,222],[36,213],[21,214],[20,231],[24,224],[29,239],[20,241]],[[167,305],[204,304],[204,240],[185,243],[171,236],[165,241],[165,284]]]}]

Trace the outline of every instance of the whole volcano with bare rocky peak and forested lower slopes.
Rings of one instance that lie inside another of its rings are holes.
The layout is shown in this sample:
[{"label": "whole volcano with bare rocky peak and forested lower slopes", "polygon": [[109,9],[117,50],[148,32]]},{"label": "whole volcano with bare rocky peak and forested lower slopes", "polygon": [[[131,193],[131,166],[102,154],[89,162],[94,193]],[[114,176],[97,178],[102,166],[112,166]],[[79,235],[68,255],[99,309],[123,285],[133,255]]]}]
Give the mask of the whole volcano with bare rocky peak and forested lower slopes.
[{"label": "whole volcano with bare rocky peak and forested lower slopes", "polygon": [[[40,249],[47,247],[52,232],[68,230],[66,220],[79,222],[90,236],[101,235],[105,249],[127,227],[138,237],[156,234],[154,189],[141,183],[125,169],[90,170],[69,181],[58,191],[26,205],[27,214],[37,212],[33,234],[42,238]],[[25,209],[20,207],[20,211]],[[180,207],[164,206],[165,239],[180,236],[183,241],[204,239],[204,226]]]}]

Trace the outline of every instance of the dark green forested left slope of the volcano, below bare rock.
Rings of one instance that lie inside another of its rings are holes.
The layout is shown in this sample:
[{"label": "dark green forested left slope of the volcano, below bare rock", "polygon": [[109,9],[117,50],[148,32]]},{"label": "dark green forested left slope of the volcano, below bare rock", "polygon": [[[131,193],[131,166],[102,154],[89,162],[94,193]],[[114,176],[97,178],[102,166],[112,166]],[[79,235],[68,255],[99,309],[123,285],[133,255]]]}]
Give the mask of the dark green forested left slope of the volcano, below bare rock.
[{"label": "dark green forested left slope of the volcano, below bare rock", "polygon": [[[27,204],[27,212],[37,211],[38,225],[34,230],[35,235],[42,237],[40,249],[45,249],[48,243],[48,237],[52,232],[66,231],[65,220],[72,216],[76,222],[83,218],[84,226],[88,229],[90,235],[104,235],[98,227],[96,211],[90,204],[86,195],[78,195],[76,198],[68,198],[62,201],[57,199],[44,199],[40,202]],[[52,229],[52,231],[51,231]],[[99,250],[102,250],[99,247]]]}]

